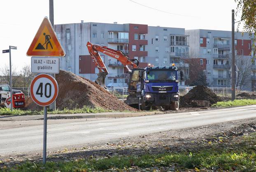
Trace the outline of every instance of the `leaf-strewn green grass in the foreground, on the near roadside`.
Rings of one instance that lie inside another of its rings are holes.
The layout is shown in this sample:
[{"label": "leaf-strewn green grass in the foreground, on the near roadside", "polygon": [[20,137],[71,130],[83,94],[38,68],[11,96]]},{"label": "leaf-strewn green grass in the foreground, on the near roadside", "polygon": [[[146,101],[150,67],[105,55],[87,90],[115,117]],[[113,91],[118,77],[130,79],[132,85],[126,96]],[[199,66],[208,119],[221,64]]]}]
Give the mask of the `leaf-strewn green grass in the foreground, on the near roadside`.
[{"label": "leaf-strewn green grass in the foreground, on the near roadside", "polygon": [[[168,167],[175,164],[176,170],[200,169],[208,170],[237,170],[255,171],[256,135],[241,137],[242,142],[229,149],[212,144],[209,149],[200,149],[196,152],[174,152],[158,155],[145,154],[142,156],[112,156],[111,158],[80,159],[77,161],[47,162],[42,163],[26,162],[12,168],[4,167],[2,171],[24,171],[24,172],[53,172],[53,171],[97,171],[114,168],[125,170],[132,166],[146,167]],[[248,144],[249,142],[249,144]]]}]

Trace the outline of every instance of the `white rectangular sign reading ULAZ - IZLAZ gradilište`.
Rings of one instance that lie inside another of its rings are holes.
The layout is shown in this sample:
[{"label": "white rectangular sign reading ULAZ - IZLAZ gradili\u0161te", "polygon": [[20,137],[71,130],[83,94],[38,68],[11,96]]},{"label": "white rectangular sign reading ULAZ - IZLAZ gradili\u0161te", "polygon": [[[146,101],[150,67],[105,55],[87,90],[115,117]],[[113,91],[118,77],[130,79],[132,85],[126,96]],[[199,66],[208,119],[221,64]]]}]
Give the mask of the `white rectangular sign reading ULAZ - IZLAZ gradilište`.
[{"label": "white rectangular sign reading ULAZ - IZLAZ gradili\u0161te", "polygon": [[60,59],[58,57],[31,57],[32,73],[59,73]]}]

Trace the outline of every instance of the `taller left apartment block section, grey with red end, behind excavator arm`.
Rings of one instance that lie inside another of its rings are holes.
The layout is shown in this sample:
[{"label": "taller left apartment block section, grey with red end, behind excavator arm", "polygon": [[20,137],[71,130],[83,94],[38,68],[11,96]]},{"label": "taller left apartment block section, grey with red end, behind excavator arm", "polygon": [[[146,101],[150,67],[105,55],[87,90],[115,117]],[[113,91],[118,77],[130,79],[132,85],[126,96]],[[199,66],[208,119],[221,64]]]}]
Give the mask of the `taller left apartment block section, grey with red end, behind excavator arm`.
[{"label": "taller left apartment block section, grey with red end, behind excavator arm", "polygon": [[[138,59],[140,67],[147,66],[147,25],[139,24],[109,24],[109,23],[71,23],[54,25],[55,32],[61,45],[65,49],[66,57],[61,58],[60,68],[76,75],[94,81],[98,75],[88,53],[86,43],[107,46],[114,50],[122,50],[130,59]],[[126,87],[127,69],[118,60],[100,53],[109,71],[106,85],[116,83],[119,87]]]}]

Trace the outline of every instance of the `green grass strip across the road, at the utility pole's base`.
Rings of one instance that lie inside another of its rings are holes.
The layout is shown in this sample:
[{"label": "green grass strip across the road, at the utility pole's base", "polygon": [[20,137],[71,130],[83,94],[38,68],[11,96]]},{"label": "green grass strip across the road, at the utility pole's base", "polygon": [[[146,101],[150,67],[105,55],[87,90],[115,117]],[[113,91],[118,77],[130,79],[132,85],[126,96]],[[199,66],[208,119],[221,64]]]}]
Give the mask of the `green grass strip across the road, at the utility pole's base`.
[{"label": "green grass strip across the road, at the utility pole's base", "polygon": [[242,100],[234,100],[234,101],[226,101],[226,102],[217,102],[213,104],[212,107],[232,107],[232,106],[245,106],[256,104],[256,100],[252,99],[242,99]]}]

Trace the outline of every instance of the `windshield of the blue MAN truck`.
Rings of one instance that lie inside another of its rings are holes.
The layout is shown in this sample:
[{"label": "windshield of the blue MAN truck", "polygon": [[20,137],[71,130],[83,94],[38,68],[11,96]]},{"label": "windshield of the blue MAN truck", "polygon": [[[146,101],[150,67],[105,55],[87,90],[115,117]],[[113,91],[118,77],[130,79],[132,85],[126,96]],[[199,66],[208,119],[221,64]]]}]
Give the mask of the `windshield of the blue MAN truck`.
[{"label": "windshield of the blue MAN truck", "polygon": [[147,72],[147,80],[170,80],[175,81],[176,80],[176,71],[170,71],[170,70],[149,70]]}]

